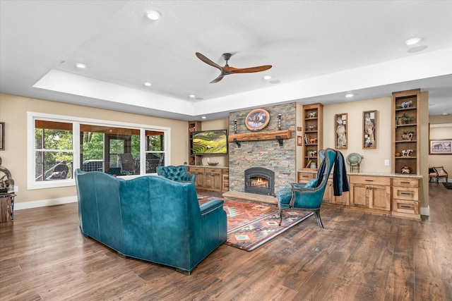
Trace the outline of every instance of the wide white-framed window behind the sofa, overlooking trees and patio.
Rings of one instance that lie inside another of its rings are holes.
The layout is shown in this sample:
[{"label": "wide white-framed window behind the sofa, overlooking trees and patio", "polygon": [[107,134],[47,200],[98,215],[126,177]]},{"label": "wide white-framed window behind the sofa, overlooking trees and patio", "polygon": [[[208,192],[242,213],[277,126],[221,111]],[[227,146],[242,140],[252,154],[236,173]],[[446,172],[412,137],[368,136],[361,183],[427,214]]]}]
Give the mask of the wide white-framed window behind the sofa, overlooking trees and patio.
[{"label": "wide white-framed window behind the sofa, overlooking trees and patio", "polygon": [[74,185],[76,168],[138,176],[165,165],[169,128],[81,119],[28,113],[28,189]]}]

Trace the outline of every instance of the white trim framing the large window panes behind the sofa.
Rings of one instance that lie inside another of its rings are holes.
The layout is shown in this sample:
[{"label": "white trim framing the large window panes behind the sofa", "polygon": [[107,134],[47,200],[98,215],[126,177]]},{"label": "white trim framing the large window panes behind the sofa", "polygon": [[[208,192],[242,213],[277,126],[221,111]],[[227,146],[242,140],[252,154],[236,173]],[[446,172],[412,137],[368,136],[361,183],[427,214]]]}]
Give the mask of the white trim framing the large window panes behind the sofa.
[{"label": "white trim framing the large window panes behind the sofa", "polygon": [[[140,130],[140,160],[145,161],[145,131],[160,130],[165,133],[165,164],[171,165],[171,128],[157,125],[143,125],[138,123],[124,123],[118,121],[106,121],[102,119],[81,118],[74,116],[54,115],[39,112],[27,112],[27,189],[59,188],[76,185],[71,178],[67,180],[35,181],[35,119],[73,123],[73,166],[74,169],[81,166],[80,162],[80,124],[88,123],[101,126],[119,126],[121,128],[134,128]],[[124,178],[137,178],[145,175],[145,164],[140,165],[140,175],[124,176]]]}]

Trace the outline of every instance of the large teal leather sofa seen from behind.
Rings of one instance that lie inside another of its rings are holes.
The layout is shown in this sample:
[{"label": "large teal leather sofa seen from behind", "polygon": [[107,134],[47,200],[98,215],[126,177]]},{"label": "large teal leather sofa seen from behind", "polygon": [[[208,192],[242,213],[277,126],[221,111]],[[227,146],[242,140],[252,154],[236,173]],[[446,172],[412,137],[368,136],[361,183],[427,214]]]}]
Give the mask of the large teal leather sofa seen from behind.
[{"label": "large teal leather sofa seen from behind", "polygon": [[190,274],[226,241],[224,201],[200,206],[192,183],[80,169],[75,176],[82,234],[120,254]]}]

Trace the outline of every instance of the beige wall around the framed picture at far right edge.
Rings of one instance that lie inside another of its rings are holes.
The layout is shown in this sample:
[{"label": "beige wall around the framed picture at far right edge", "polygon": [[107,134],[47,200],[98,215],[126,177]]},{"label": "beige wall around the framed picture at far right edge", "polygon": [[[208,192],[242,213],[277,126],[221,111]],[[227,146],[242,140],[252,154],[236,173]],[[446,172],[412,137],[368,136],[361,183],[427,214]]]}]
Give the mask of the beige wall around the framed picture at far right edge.
[{"label": "beige wall around the framed picture at far right edge", "polygon": [[[452,139],[452,115],[429,116],[430,139]],[[429,154],[429,166],[444,166],[452,181],[452,154]]]}]

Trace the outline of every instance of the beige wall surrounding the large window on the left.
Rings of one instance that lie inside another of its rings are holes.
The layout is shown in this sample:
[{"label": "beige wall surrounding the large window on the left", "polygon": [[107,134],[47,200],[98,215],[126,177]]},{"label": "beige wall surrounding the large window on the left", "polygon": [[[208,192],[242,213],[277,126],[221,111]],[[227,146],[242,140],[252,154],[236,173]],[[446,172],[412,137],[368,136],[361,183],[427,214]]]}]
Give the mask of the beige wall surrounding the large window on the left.
[{"label": "beige wall surrounding the large window on the left", "polygon": [[172,145],[171,164],[184,164],[184,161],[188,160],[188,123],[185,121],[0,94],[0,121],[5,123],[6,128],[5,150],[0,151],[0,156],[3,160],[2,166],[11,171],[15,185],[19,188],[16,204],[65,199],[76,195],[74,186],[27,190],[27,111],[169,127]]}]

